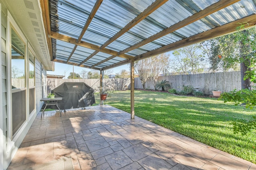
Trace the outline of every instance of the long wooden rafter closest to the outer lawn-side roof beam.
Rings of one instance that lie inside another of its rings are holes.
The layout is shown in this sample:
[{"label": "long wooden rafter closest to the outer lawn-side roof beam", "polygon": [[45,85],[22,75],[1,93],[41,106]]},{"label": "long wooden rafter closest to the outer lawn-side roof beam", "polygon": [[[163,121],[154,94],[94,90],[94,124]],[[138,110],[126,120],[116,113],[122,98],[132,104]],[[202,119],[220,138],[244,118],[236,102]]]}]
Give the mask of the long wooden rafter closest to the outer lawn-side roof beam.
[{"label": "long wooden rafter closest to the outer lawn-side roof beam", "polygon": [[132,50],[134,50],[138,47],[141,47],[147,43],[150,43],[160,37],[163,37],[164,35],[167,35],[167,34],[172,33],[186,25],[189,25],[190,23],[193,23],[195,21],[198,21],[198,20],[210,15],[210,14],[213,14],[214,12],[217,12],[218,10],[221,10],[227,6],[230,6],[238,1],[240,1],[240,0],[220,0],[212,5],[208,6],[204,10],[201,10],[198,13],[193,14],[192,16],[189,16],[188,18],[186,18],[178,23],[175,23],[174,25],[160,31],[159,33],[156,33],[155,35],[152,35],[151,37],[148,37],[147,39],[145,39],[131,47],[128,47],[127,49],[120,51],[119,53],[124,54],[124,53],[127,53],[128,51],[132,51]]}]

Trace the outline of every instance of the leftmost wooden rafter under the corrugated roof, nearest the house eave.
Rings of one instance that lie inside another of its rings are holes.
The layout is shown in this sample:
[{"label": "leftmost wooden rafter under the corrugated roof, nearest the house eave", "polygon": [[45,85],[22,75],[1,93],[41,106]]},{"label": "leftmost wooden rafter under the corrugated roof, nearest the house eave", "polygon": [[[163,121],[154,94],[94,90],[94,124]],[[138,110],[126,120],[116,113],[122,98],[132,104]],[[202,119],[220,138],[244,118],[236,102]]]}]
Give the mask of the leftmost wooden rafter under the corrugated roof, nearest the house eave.
[{"label": "leftmost wooden rafter under the corrugated roof, nearest the house eave", "polygon": [[[88,28],[88,26],[90,25],[92,19],[93,19],[94,16],[95,16],[96,12],[97,12],[98,9],[100,8],[100,4],[102,3],[102,1],[103,1],[103,0],[97,0],[97,1],[96,1],[94,7],[92,8],[92,11],[91,11],[90,15],[88,16],[88,18],[87,18],[87,20],[86,20],[86,23],[84,24],[84,27],[83,27],[83,29],[82,29],[82,31],[81,31],[81,33],[80,33],[78,39],[77,39],[77,42],[78,42],[78,43],[80,43],[82,37],[84,36],[84,33],[85,33],[86,29]],[[68,63],[68,61],[70,60],[70,58],[72,57],[72,55],[73,55],[74,52],[76,51],[76,47],[77,47],[77,46],[78,46],[78,45],[75,45],[75,46],[74,46],[74,48],[73,48],[72,52],[70,53],[70,55],[69,55],[69,57],[68,57],[66,63]],[[80,63],[80,65],[81,65],[81,63]]]}]

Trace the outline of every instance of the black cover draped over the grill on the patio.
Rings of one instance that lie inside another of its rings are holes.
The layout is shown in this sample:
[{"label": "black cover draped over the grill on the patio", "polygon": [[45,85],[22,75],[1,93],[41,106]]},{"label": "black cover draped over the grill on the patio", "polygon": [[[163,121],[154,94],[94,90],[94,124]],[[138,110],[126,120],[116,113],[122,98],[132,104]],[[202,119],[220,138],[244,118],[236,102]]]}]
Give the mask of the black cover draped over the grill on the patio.
[{"label": "black cover draped over the grill on the patio", "polygon": [[[94,90],[84,82],[64,82],[54,88],[52,92],[55,94],[55,98],[63,98],[58,101],[60,109],[86,107],[95,104]],[[52,109],[58,108],[52,106]]]}]

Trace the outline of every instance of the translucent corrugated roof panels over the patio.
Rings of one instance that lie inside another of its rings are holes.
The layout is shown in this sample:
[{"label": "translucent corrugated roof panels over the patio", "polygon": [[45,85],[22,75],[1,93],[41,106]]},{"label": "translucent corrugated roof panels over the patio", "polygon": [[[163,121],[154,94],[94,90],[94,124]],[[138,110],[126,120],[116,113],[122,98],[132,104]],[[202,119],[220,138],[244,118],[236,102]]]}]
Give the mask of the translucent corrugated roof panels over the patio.
[{"label": "translucent corrugated roof panels over the patio", "polygon": [[[61,35],[68,35],[77,39],[96,1],[49,0],[49,2],[51,7],[51,30]],[[100,47],[154,2],[155,0],[103,0],[84,33],[82,41]],[[114,53],[128,49],[148,37],[156,35],[160,31],[175,25],[179,21],[185,20],[189,16],[204,10],[216,2],[219,1],[168,0],[144,20],[140,21],[137,25],[133,25],[126,33],[117,37],[112,43],[108,44],[106,48],[109,51],[112,50]],[[164,47],[190,36],[197,35],[198,33],[255,14],[255,5],[255,0],[241,0],[205,18],[185,25],[172,33],[154,39],[152,42],[142,44],[140,47],[131,49],[128,52],[126,51],[125,54],[136,57],[148,51]],[[52,48],[53,55],[56,59],[67,61],[74,45],[53,39]],[[112,53],[103,53],[100,49],[98,49],[98,51],[96,55],[92,56],[92,58],[88,59],[82,65],[90,67],[112,56]],[[95,49],[87,49],[78,46],[70,58],[70,62],[80,64],[94,52]],[[105,66],[124,60],[126,59],[115,57],[102,64],[98,64],[96,68],[104,68]]]}]

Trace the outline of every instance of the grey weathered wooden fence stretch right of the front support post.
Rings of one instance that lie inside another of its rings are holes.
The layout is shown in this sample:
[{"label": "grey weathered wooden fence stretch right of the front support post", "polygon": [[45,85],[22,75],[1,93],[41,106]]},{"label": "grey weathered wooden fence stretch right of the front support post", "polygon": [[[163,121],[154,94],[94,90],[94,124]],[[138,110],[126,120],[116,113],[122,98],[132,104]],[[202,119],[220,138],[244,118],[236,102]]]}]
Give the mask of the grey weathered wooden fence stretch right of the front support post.
[{"label": "grey weathered wooden fence stretch right of the front support post", "polygon": [[[241,89],[241,75],[240,71],[233,72],[212,72],[202,74],[183,74],[174,76],[159,76],[157,81],[167,80],[177,91],[183,90],[182,86],[191,85],[193,87],[200,87],[198,90],[204,94],[212,94],[212,90],[220,90],[222,92],[230,92],[235,88]],[[134,80],[135,88],[142,89],[142,84],[139,78]],[[146,81],[147,89],[154,89],[150,78]],[[170,88],[165,88],[169,90]]]}]

